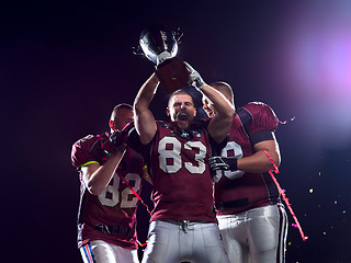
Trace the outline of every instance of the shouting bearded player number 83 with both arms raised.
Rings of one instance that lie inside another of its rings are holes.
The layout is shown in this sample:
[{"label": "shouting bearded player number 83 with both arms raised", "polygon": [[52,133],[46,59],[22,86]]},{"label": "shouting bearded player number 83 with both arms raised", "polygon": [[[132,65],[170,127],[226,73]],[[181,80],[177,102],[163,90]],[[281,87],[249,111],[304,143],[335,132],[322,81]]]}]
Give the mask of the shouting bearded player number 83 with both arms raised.
[{"label": "shouting bearded player number 83 with both arms raised", "polygon": [[210,123],[193,121],[196,108],[184,90],[173,92],[169,99],[170,123],[155,121],[149,104],[159,84],[156,75],[144,83],[134,102],[135,134],[154,182],[155,209],[144,263],[228,262],[213,213],[207,160],[210,140],[222,142],[226,138],[234,108],[197,71],[186,67],[190,82],[211,98],[218,112]]}]

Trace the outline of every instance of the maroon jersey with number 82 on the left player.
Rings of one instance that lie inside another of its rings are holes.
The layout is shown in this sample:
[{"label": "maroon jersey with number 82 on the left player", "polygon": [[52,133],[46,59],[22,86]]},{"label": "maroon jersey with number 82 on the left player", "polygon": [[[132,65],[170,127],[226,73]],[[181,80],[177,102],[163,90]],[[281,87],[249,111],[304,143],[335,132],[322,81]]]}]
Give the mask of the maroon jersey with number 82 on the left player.
[{"label": "maroon jersey with number 82 on the left player", "polygon": [[[87,136],[78,140],[71,152],[71,161],[80,174],[80,207],[78,214],[78,247],[91,240],[103,240],[126,249],[137,249],[137,197],[122,181],[139,193],[144,161],[139,153],[127,148],[110,184],[99,195],[88,192],[81,167],[91,162],[103,164],[113,151],[106,135]],[[107,233],[106,231],[110,231]]]}]

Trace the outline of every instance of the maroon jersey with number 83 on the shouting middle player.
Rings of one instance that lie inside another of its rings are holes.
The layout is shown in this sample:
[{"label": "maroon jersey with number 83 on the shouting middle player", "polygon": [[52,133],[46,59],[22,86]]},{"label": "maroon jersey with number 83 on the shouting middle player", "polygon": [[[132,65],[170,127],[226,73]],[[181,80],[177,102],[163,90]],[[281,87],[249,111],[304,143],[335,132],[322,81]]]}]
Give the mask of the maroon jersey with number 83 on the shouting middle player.
[{"label": "maroon jersey with number 83 on the shouting middle player", "polygon": [[155,138],[146,148],[154,182],[150,220],[216,221],[204,123],[178,130],[174,125],[157,122]]}]

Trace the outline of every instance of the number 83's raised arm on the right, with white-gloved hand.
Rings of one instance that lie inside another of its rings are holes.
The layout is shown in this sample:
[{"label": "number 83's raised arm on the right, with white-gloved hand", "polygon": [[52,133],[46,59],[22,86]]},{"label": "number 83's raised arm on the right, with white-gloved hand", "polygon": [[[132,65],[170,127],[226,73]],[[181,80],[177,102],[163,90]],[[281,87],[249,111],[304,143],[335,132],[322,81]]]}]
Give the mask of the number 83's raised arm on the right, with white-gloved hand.
[{"label": "number 83's raised arm on the right, with white-gloved hand", "polygon": [[194,82],[197,90],[213,103],[216,114],[210,121],[208,133],[215,141],[222,142],[229,133],[235,108],[219,91],[206,84],[196,70],[189,64],[185,65],[190,71],[190,82]]}]

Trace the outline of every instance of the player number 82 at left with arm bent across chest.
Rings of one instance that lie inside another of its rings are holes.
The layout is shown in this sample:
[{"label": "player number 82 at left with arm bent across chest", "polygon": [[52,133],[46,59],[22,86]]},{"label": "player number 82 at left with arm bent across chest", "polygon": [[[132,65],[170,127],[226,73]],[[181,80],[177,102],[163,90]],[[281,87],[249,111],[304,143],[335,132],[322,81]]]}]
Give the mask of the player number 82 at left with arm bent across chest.
[{"label": "player number 82 at left with arm bent across chest", "polygon": [[139,262],[133,191],[139,193],[141,178],[149,176],[141,156],[117,138],[133,117],[132,105],[118,104],[109,123],[114,140],[109,134],[89,135],[72,146],[81,184],[78,248],[84,263]]}]

